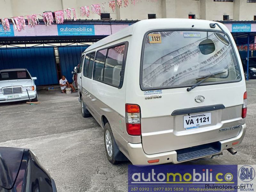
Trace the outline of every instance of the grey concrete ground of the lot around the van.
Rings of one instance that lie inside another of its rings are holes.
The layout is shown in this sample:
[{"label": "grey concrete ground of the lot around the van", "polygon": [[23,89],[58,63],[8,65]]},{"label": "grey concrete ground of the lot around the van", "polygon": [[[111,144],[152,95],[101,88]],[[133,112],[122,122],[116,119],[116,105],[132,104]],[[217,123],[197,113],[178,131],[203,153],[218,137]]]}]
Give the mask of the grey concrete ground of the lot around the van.
[{"label": "grey concrete ground of the lot around the van", "polygon": [[[236,156],[187,164],[256,164],[256,80],[247,82],[247,132]],[[32,149],[50,172],[59,192],[127,191],[128,164],[108,162],[103,130],[93,117],[83,118],[77,93],[40,91],[39,105],[0,104],[0,146]]]}]

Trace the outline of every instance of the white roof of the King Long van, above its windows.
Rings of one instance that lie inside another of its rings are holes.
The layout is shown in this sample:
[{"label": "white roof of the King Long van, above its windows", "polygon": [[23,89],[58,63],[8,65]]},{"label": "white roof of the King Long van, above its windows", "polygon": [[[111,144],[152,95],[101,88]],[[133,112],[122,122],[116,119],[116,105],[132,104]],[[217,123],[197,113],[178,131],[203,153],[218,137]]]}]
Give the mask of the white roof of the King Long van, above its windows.
[{"label": "white roof of the King Long van, above its windows", "polygon": [[[210,23],[218,23],[224,30],[227,32],[228,28],[222,23],[216,21],[209,21],[209,20],[199,20],[199,19],[148,19],[148,20],[141,20],[129,27],[126,27],[110,36],[107,36],[100,41],[90,45],[84,52],[91,51],[96,49],[100,46],[106,45],[108,43],[117,41],[127,36],[132,36],[134,30],[136,31],[148,31],[157,28],[191,28],[194,25],[196,29],[209,29]],[[220,30],[220,28],[216,27],[216,30]]]}]

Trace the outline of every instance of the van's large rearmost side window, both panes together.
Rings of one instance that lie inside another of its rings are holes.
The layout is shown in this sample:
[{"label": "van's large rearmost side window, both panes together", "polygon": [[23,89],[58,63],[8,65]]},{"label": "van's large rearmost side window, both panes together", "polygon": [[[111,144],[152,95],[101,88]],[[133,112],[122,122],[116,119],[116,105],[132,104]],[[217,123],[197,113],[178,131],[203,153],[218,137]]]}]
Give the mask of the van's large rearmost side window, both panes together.
[{"label": "van's large rearmost side window, both panes together", "polygon": [[96,53],[93,79],[118,87],[121,80],[125,44]]}]

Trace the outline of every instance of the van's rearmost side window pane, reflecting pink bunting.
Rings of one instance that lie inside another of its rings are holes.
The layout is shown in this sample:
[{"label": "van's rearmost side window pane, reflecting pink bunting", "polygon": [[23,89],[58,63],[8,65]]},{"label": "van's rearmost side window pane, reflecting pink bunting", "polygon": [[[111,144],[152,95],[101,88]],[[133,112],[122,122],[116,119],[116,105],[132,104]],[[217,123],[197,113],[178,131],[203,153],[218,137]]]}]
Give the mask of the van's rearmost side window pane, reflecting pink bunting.
[{"label": "van's rearmost side window pane, reflecting pink bunting", "polygon": [[124,58],[124,48],[125,45],[119,45],[108,49],[108,56],[104,68],[104,82],[119,86],[120,72]]}]

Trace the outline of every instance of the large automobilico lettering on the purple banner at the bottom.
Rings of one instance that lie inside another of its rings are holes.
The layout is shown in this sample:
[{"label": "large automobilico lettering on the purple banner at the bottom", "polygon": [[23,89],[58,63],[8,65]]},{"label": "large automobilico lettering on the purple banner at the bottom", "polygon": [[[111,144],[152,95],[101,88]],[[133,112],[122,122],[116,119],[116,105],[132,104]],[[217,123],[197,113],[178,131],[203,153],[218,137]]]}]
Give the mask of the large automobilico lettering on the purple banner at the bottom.
[{"label": "large automobilico lettering on the purple banner at the bottom", "polygon": [[155,173],[154,169],[147,173],[133,173],[131,183],[234,183],[230,172],[215,172],[212,169],[193,169],[193,172]]}]

